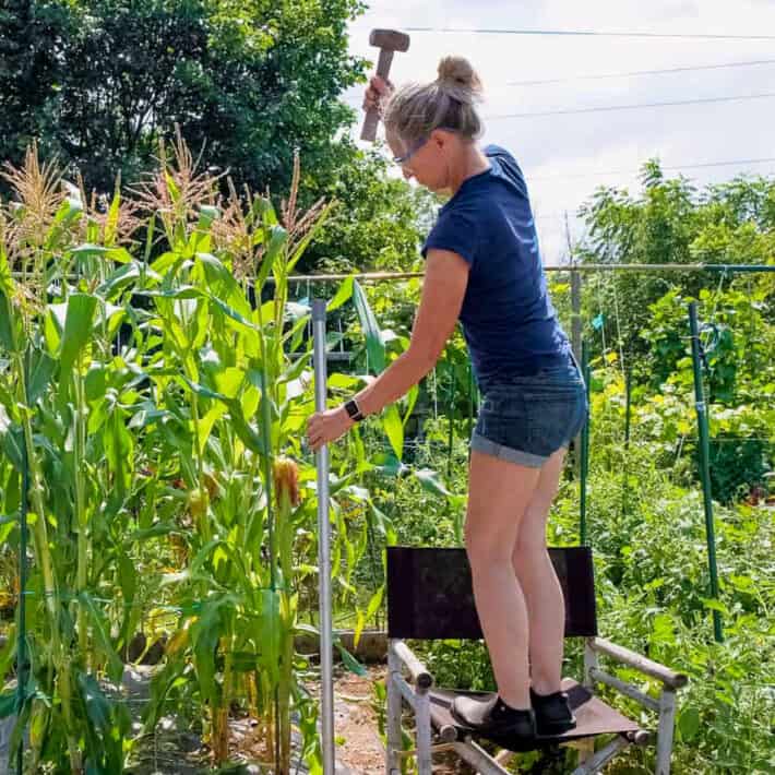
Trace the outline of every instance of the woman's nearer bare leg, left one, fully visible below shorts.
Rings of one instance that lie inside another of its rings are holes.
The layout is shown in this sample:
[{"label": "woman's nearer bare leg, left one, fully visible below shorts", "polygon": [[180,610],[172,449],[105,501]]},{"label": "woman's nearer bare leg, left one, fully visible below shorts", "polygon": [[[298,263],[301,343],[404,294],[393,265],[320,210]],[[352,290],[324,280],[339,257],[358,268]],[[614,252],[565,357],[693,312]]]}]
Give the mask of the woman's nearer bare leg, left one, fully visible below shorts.
[{"label": "woman's nearer bare leg, left one, fully visible below shorts", "polygon": [[498,692],[514,708],[530,707],[530,695],[527,608],[512,555],[539,473],[472,452],[466,551]]}]

